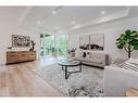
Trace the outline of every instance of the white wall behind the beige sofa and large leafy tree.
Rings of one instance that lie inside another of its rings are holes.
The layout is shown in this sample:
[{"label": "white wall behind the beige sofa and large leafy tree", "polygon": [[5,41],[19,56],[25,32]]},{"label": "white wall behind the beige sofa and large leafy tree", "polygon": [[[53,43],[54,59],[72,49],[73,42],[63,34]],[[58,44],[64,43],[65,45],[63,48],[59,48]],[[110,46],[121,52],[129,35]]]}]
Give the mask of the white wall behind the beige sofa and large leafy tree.
[{"label": "white wall behind the beige sofa and large leafy tree", "polygon": [[[121,36],[126,29],[138,30],[138,17],[124,18],[115,22],[105,23],[102,25],[96,25],[91,27],[81,28],[76,31],[70,33],[68,48],[77,47],[79,51],[79,36],[80,35],[95,35],[104,34],[104,52],[108,52],[113,57],[127,57],[127,53],[124,50],[118,50],[115,46],[116,38]],[[133,57],[138,57],[138,52],[131,53]]]}]

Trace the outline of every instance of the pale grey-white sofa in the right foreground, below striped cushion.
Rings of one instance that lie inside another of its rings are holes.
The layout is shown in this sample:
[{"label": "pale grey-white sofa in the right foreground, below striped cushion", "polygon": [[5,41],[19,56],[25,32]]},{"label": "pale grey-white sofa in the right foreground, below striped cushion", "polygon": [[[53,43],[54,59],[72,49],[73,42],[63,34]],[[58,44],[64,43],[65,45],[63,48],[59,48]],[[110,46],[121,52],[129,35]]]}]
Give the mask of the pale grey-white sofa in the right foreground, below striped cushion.
[{"label": "pale grey-white sofa in the right foreground, below striped cushion", "polygon": [[116,66],[104,67],[105,96],[125,96],[130,88],[138,89],[138,72]]}]

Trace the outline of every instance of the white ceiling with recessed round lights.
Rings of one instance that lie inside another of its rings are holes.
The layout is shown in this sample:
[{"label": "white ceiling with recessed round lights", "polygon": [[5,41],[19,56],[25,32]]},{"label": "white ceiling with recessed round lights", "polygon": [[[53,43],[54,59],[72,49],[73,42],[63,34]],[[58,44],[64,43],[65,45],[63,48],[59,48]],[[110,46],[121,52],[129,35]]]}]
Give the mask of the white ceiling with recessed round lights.
[{"label": "white ceiling with recessed round lights", "polygon": [[136,7],[5,7],[0,8],[0,20],[7,18],[39,34],[66,34],[81,27],[137,16],[137,11]]}]

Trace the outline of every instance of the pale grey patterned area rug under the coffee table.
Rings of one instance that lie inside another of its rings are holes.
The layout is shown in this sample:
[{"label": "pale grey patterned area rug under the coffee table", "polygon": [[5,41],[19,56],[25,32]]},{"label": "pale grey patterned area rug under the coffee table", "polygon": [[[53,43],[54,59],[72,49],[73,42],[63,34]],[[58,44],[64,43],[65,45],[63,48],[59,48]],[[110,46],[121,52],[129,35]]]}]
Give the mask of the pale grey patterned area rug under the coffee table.
[{"label": "pale grey patterned area rug under the coffee table", "polygon": [[[70,67],[70,70],[79,69]],[[41,78],[68,96],[103,96],[103,69],[83,66],[81,73],[71,74],[66,80],[58,64],[34,69]]]}]

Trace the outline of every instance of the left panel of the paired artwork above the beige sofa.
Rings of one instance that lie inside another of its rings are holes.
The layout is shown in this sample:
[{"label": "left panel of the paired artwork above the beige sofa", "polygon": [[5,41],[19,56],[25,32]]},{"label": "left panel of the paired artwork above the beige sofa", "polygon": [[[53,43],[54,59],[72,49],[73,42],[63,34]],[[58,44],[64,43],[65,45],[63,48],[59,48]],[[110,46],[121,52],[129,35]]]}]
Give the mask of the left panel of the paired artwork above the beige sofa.
[{"label": "left panel of the paired artwork above the beige sofa", "polygon": [[81,50],[89,50],[89,35],[80,36],[79,37],[79,49]]}]

